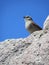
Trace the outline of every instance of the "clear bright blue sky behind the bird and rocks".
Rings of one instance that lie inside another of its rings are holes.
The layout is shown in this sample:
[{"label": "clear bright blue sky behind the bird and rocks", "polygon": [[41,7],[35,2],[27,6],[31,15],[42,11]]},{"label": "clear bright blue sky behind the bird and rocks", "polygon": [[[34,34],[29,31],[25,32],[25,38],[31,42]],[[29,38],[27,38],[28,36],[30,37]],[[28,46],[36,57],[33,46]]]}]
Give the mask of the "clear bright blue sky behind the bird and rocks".
[{"label": "clear bright blue sky behind the bird and rocks", "polygon": [[0,41],[27,37],[23,20],[26,15],[43,27],[49,15],[49,0],[0,0]]}]

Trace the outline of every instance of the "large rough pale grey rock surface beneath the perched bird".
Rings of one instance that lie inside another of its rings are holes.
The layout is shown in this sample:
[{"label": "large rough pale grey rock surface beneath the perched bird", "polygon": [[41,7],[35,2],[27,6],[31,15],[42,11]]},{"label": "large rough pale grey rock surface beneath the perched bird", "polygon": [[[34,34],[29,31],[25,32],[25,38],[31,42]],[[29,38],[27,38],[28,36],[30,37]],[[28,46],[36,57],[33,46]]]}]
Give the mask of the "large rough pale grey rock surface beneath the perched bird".
[{"label": "large rough pale grey rock surface beneath the perched bird", "polygon": [[0,65],[49,65],[49,30],[0,42]]}]

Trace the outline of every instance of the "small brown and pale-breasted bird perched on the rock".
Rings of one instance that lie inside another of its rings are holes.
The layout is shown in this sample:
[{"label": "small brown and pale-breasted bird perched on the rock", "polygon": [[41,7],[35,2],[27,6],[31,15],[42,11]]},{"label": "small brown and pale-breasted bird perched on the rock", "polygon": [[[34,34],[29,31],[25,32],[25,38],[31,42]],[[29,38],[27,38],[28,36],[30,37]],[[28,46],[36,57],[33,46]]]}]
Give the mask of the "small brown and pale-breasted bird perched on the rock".
[{"label": "small brown and pale-breasted bird perched on the rock", "polygon": [[33,33],[34,31],[37,31],[37,30],[42,30],[41,27],[39,27],[36,23],[33,22],[30,16],[24,16],[24,20],[25,20],[25,28],[30,33]]}]

